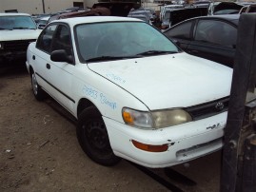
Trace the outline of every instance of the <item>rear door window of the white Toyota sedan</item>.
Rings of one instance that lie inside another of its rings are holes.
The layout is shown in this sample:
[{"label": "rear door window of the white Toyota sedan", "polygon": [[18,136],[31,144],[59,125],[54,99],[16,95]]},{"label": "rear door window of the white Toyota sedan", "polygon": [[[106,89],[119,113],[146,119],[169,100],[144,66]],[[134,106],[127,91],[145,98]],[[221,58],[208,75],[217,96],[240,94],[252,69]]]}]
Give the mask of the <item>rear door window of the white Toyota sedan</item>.
[{"label": "rear door window of the white Toyota sedan", "polygon": [[39,48],[49,53],[52,36],[56,28],[57,28],[57,25],[50,25],[48,28],[44,29],[40,34],[40,36],[38,37],[36,48]]}]

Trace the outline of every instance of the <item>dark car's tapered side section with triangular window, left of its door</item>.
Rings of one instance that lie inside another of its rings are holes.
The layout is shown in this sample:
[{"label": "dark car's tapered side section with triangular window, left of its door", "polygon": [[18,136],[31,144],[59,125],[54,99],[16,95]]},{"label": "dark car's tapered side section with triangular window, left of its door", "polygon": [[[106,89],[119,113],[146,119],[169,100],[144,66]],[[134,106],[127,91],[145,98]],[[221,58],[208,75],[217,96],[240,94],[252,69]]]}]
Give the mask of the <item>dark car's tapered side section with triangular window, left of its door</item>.
[{"label": "dark car's tapered side section with triangular window, left of its door", "polygon": [[192,31],[193,31],[194,21],[186,21],[173,28],[164,31],[164,34],[177,44],[180,48],[187,51],[187,47],[192,41]]}]

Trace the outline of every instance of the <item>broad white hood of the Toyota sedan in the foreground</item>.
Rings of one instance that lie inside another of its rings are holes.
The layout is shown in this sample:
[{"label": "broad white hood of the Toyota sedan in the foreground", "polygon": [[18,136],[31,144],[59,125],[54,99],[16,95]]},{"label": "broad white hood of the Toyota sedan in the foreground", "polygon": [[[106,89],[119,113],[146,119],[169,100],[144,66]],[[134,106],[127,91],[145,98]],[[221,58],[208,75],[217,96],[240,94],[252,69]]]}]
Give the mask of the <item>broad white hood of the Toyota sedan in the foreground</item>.
[{"label": "broad white hood of the Toyota sedan in the foreground", "polygon": [[232,79],[231,68],[184,52],[91,63],[89,68],[150,110],[195,106],[226,97]]}]

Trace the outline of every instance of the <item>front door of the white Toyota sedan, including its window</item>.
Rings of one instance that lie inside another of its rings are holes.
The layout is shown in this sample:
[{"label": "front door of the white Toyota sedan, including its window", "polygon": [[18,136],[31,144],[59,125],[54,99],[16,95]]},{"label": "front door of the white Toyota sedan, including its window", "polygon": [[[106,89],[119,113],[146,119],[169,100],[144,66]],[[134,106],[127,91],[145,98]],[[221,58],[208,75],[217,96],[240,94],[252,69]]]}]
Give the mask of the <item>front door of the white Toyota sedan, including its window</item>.
[{"label": "front door of the white Toyota sedan, including its window", "polygon": [[[60,23],[52,38],[51,52],[63,49],[70,58],[74,58],[69,26]],[[74,59],[70,63],[53,62],[50,60],[47,64],[47,77],[50,85],[49,93],[71,113],[73,113],[75,104],[72,91],[74,67]]]}]

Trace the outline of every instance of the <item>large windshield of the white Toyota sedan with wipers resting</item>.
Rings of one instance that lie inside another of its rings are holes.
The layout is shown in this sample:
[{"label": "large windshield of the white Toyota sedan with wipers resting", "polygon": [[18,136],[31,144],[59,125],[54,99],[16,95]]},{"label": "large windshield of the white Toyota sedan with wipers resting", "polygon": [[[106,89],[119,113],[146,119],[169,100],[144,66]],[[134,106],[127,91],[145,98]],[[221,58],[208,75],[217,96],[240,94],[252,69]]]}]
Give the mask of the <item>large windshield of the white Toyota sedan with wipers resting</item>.
[{"label": "large windshield of the white Toyota sedan with wipers resting", "polygon": [[165,35],[144,22],[84,24],[77,26],[74,33],[82,63],[96,61],[95,58],[120,59],[179,51]]}]

